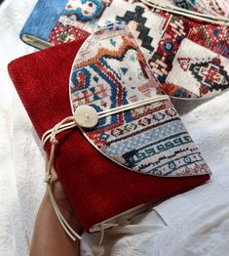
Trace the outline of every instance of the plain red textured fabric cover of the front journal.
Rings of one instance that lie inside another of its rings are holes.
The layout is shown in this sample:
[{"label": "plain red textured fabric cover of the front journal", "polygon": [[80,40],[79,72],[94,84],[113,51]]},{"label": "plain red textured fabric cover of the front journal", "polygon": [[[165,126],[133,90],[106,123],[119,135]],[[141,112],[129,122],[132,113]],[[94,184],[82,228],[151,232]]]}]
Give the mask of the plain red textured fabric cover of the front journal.
[{"label": "plain red textured fabric cover of the front journal", "polygon": [[[9,64],[10,76],[40,138],[72,114],[68,82],[82,43],[62,44]],[[57,175],[87,232],[139,204],[159,202],[210,179],[210,175],[159,178],[131,172],[98,152],[77,128],[58,135],[57,140]]]}]

